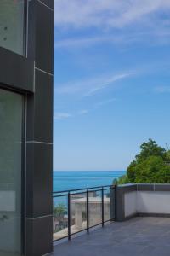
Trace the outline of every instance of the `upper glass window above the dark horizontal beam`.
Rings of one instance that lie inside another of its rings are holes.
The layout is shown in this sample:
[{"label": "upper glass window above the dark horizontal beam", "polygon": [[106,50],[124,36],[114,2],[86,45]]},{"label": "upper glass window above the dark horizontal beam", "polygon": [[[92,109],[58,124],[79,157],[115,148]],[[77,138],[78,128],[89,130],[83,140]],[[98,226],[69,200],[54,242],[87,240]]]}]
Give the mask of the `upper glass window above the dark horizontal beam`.
[{"label": "upper glass window above the dark horizontal beam", "polygon": [[24,0],[0,1],[0,46],[24,53]]}]

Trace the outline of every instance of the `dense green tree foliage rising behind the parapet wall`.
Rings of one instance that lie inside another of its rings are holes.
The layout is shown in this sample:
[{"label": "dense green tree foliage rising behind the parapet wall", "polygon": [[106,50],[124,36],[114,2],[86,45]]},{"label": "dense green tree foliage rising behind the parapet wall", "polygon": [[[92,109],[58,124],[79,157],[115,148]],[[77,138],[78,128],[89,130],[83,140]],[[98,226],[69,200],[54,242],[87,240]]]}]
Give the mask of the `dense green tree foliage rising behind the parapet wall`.
[{"label": "dense green tree foliage rising behind the parapet wall", "polygon": [[[123,183],[170,183],[170,150],[161,148],[149,139],[142,143],[140,153],[127,167],[127,174],[120,177]],[[116,181],[115,181],[116,183]]]}]

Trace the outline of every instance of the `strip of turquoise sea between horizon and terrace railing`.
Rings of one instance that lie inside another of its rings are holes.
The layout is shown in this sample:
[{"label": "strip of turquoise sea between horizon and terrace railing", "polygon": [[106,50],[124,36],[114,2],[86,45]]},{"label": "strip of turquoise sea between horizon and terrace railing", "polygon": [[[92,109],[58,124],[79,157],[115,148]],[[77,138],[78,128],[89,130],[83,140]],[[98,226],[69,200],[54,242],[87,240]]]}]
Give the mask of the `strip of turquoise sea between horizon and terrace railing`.
[{"label": "strip of turquoise sea between horizon and terrace railing", "polygon": [[100,172],[56,172],[54,171],[54,191],[83,189],[111,185],[114,178],[121,177],[125,171]]}]

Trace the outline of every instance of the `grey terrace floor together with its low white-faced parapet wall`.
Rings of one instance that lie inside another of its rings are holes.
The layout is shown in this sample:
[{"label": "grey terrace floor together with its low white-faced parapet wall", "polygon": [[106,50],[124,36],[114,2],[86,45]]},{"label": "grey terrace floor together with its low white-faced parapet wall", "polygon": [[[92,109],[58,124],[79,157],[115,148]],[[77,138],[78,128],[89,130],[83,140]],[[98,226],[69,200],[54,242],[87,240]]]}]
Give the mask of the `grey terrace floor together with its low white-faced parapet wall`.
[{"label": "grey terrace floor together with its low white-faced parapet wall", "polygon": [[115,220],[88,234],[73,234],[71,241],[54,242],[54,255],[170,255],[170,185],[129,184],[118,186],[113,195]]}]

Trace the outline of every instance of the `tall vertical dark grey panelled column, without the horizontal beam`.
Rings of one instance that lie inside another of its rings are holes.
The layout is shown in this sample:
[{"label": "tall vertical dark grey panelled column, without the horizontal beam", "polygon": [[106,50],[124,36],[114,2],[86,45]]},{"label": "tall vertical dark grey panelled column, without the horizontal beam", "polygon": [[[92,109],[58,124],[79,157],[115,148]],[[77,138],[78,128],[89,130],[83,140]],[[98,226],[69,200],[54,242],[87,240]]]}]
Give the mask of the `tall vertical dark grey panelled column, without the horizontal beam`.
[{"label": "tall vertical dark grey panelled column, without the horizontal beam", "polygon": [[28,13],[34,93],[26,111],[26,256],[39,256],[53,251],[54,1],[31,0]]}]

